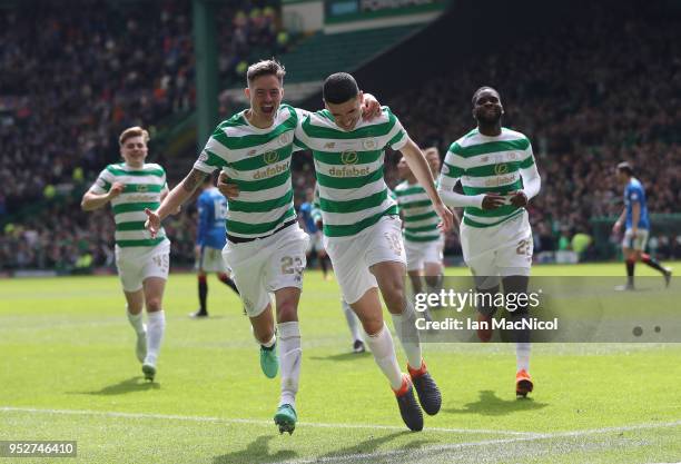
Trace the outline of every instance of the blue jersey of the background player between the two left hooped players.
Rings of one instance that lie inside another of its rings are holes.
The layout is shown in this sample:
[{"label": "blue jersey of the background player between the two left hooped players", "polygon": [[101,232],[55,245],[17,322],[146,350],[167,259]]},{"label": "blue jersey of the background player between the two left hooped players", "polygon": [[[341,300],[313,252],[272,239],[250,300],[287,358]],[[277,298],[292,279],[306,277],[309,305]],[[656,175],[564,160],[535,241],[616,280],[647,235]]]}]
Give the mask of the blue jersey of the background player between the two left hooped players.
[{"label": "blue jersey of the background player between the two left hooped players", "polygon": [[199,225],[196,244],[199,246],[223,249],[227,243],[225,220],[227,219],[227,198],[217,187],[201,191],[196,200]]}]

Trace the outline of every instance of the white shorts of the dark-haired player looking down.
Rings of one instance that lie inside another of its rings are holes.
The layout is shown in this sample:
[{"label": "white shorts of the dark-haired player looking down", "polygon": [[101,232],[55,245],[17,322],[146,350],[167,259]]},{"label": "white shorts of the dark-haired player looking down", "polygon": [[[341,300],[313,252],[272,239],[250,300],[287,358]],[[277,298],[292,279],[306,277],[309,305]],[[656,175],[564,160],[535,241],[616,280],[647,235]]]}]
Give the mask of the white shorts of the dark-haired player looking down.
[{"label": "white shorts of the dark-haired player looking down", "polygon": [[343,299],[349,304],[378,286],[369,267],[386,261],[406,266],[402,220],[397,216],[384,216],[372,227],[351,237],[325,236],[324,247],[334,265]]}]

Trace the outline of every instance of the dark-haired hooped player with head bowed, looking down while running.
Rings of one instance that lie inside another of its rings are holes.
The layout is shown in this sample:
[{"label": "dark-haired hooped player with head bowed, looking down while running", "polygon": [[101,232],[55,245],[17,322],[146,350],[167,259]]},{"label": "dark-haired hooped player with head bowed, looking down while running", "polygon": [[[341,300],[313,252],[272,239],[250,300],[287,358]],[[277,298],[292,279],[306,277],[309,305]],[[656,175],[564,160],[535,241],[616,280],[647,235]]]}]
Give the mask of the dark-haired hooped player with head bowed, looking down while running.
[{"label": "dark-haired hooped player with head bowed, looking down while running", "polygon": [[[326,109],[303,118],[296,140],[313,151],[324,245],[343,297],[359,317],[376,364],[395,392],[403,421],[408,428],[421,431],[423,414],[412,385],[427,414],[440,411],[442,398],[423,362],[416,317],[404,293],[406,263],[397,205],[388,197],[383,176],[385,148],[401,150],[407,158],[445,229],[452,225],[452,214],[435,190],[421,149],[387,107],[375,120],[364,119],[363,93],[345,72],[325,80],[323,96]],[[402,374],[397,365],[377,287],[407,355],[409,375]]]}]

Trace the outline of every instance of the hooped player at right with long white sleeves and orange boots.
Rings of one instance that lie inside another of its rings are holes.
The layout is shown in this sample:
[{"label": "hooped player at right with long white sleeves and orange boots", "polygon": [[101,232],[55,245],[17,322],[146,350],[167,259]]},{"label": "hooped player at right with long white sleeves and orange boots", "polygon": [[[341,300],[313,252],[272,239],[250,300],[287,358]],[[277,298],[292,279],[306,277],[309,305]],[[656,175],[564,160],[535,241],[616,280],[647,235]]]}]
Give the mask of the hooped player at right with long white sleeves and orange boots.
[{"label": "hooped player at right with long white sleeves and orange boots", "polygon": [[[477,128],[456,140],[445,157],[440,195],[451,207],[465,207],[461,225],[464,260],[475,276],[481,294],[527,292],[532,266],[532,229],[525,206],[541,188],[532,145],[521,132],[502,127],[501,97],[491,87],[473,95]],[[453,191],[461,180],[463,195]],[[485,299],[485,298],[483,298]],[[492,337],[491,320],[496,307],[478,307],[483,342]],[[512,319],[527,317],[526,305],[511,313]],[[485,327],[487,327],[485,329]],[[515,392],[532,392],[530,332],[517,330]]]}]

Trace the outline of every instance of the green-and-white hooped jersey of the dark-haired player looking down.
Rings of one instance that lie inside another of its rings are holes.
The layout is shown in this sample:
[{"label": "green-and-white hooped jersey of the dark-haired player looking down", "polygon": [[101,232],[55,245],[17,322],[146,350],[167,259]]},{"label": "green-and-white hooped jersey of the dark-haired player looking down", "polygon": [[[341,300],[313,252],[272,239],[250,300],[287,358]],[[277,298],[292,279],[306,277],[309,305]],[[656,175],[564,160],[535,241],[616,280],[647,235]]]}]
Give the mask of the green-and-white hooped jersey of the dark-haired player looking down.
[{"label": "green-and-white hooped jersey of the dark-haired player looking down", "polygon": [[397,205],[385,184],[385,148],[401,149],[408,136],[387,107],[371,121],[361,119],[343,130],[327,110],[306,115],[296,144],[313,151],[319,186],[319,208],[327,237],[351,237],[396,215]]}]

